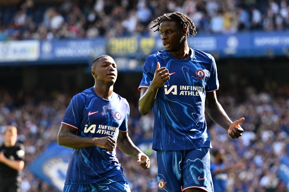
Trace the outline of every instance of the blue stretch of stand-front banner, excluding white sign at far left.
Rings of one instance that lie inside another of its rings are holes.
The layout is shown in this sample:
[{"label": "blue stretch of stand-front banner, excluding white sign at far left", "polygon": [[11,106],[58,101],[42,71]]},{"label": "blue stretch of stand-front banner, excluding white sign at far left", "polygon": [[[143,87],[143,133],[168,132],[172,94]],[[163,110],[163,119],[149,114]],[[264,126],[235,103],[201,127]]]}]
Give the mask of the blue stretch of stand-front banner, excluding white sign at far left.
[{"label": "blue stretch of stand-front banner, excluding white sign at far left", "polygon": [[[113,57],[145,59],[164,49],[160,36],[131,36],[80,40],[54,40],[40,42],[39,60],[92,59],[107,54]],[[288,32],[243,32],[235,34],[197,34],[187,37],[191,48],[200,49],[219,58],[262,57],[268,52],[276,56],[289,53]]]}]

